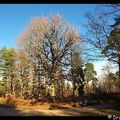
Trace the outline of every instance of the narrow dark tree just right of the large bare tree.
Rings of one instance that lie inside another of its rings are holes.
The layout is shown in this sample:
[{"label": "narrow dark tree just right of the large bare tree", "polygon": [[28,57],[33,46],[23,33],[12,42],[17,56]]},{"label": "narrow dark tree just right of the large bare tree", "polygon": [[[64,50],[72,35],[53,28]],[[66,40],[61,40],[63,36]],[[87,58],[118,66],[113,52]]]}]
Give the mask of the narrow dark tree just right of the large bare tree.
[{"label": "narrow dark tree just right of the large bare tree", "polygon": [[84,97],[84,73],[83,73],[83,60],[80,56],[80,53],[76,50],[73,50],[71,56],[71,79],[73,83],[73,95],[77,89],[78,95],[81,98]]}]

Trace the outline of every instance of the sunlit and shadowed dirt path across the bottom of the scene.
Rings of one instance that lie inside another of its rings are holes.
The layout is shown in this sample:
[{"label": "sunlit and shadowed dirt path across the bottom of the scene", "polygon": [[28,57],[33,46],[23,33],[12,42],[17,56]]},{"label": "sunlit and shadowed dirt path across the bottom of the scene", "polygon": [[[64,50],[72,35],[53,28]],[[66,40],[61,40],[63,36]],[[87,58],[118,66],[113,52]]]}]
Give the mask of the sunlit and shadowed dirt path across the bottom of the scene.
[{"label": "sunlit and shadowed dirt path across the bottom of the scene", "polygon": [[[39,109],[39,108],[8,108],[0,106],[0,116],[107,116],[120,115],[120,109],[84,107],[62,109]],[[108,107],[108,106],[107,106]]]}]

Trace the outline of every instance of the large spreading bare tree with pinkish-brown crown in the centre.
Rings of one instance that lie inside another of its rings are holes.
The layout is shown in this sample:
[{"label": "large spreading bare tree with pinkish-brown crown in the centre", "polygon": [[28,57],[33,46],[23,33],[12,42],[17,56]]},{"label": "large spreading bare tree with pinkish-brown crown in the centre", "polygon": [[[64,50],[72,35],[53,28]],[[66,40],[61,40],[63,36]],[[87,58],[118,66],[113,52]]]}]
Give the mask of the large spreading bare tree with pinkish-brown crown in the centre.
[{"label": "large spreading bare tree with pinkish-brown crown in the centre", "polygon": [[37,74],[34,81],[41,81],[46,76],[59,93],[57,86],[63,84],[59,80],[62,81],[60,76],[68,66],[70,48],[78,40],[77,31],[60,15],[34,18],[18,39],[19,46],[34,66]]}]

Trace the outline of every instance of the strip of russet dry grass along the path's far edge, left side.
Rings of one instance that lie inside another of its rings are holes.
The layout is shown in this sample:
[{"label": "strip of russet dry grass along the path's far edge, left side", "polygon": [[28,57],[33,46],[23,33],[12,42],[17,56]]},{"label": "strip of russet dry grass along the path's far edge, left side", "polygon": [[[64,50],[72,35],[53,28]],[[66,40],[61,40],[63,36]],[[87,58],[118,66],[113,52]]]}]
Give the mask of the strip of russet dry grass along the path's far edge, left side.
[{"label": "strip of russet dry grass along the path's far edge, left side", "polygon": [[8,106],[16,106],[19,108],[39,108],[39,109],[49,109],[49,107],[72,107],[76,103],[48,103],[48,102],[35,102],[32,100],[24,100],[18,98],[0,98],[0,104]]}]

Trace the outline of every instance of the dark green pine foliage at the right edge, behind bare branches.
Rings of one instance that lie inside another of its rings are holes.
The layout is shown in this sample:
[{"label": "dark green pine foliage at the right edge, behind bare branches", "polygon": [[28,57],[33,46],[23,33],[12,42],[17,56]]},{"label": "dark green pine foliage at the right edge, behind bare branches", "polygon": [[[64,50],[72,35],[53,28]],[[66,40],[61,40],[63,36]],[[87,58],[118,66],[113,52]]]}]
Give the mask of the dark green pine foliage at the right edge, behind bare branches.
[{"label": "dark green pine foliage at the right edge, behind bare branches", "polygon": [[115,18],[115,24],[112,25],[113,30],[108,37],[107,45],[103,53],[107,54],[109,58],[113,59],[119,65],[120,77],[120,17]]}]

